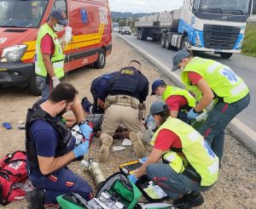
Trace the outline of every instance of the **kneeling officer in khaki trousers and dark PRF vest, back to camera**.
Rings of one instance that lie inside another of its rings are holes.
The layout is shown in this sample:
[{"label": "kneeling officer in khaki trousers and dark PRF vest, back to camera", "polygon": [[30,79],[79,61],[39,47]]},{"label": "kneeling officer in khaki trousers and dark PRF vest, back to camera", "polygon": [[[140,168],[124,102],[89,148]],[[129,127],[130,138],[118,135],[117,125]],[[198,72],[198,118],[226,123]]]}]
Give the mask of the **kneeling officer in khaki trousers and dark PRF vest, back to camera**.
[{"label": "kneeling officer in khaki trousers and dark PRF vest, back to camera", "polygon": [[[148,96],[148,79],[143,75],[141,64],[131,60],[129,65],[122,68],[113,77],[110,95],[106,99],[105,114],[102,121],[102,148],[99,151],[99,161],[108,161],[109,149],[113,143],[113,133],[122,123],[131,131],[132,141],[137,157],[145,155],[142,143],[145,127],[139,118],[139,104],[143,104]],[[143,116],[142,116],[143,117]]]}]

